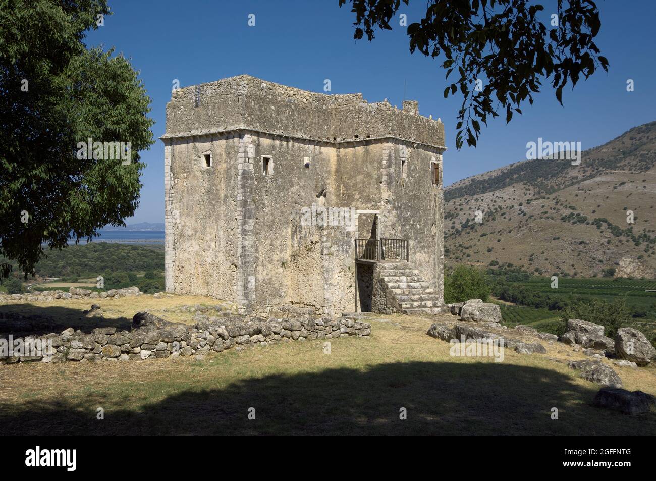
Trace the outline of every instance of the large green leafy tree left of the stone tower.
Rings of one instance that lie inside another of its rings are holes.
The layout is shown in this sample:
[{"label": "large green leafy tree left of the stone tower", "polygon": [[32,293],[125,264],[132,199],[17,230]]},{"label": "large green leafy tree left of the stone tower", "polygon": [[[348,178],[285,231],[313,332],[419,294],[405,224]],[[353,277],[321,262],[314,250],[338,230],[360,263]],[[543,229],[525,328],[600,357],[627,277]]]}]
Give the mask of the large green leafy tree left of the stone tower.
[{"label": "large green leafy tree left of the stone tower", "polygon": [[[109,14],[106,0],[0,0],[0,255],[26,276],[42,245],[91,240],[138,205],[150,98],[128,60],[83,43]],[[131,163],[80,159],[89,138],[130,142]]]}]

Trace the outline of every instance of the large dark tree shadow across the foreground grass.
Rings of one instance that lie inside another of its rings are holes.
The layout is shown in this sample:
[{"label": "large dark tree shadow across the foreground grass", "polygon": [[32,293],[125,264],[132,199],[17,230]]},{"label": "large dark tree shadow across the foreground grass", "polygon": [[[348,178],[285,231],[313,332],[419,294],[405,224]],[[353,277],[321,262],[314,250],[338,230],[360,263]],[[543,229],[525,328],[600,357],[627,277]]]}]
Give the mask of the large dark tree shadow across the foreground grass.
[{"label": "large dark tree shadow across the foreground grass", "polygon": [[[407,362],[368,369],[326,369],[243,379],[226,388],[188,388],[131,407],[107,392],[44,404],[0,404],[0,423],[14,434],[194,435],[653,435],[652,411],[630,417],[590,406],[598,387],[557,371],[492,362]],[[125,387],[144,398],[182,380]],[[108,386],[108,388],[110,388]],[[104,419],[96,409],[104,408]],[[249,409],[255,419],[249,419]],[[401,408],[407,419],[401,420]],[[558,419],[552,419],[552,408]],[[251,411],[252,412],[252,411]]]}]

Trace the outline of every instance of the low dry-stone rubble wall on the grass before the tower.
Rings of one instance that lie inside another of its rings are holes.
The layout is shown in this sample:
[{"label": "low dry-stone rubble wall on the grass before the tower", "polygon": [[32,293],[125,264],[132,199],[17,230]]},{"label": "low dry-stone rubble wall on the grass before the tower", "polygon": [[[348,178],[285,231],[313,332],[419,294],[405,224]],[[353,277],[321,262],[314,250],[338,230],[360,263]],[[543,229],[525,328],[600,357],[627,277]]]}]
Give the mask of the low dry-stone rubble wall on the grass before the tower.
[{"label": "low dry-stone rubble wall on the grass before the tower", "polygon": [[[135,316],[150,314],[139,313]],[[158,318],[155,318],[158,319]],[[358,318],[255,318],[245,321],[234,316],[222,319],[196,316],[194,325],[165,322],[139,327],[132,331],[117,331],[115,327],[97,327],[91,333],[68,328],[61,333],[39,336],[47,347],[35,355],[9,356],[0,352],[0,364],[17,362],[102,362],[143,361],[163,358],[205,356],[249,346],[268,346],[289,341],[313,341],[341,337],[368,338],[371,324]],[[134,323],[134,321],[133,321]],[[13,339],[25,344],[34,336]],[[0,346],[7,345],[1,342]]]}]

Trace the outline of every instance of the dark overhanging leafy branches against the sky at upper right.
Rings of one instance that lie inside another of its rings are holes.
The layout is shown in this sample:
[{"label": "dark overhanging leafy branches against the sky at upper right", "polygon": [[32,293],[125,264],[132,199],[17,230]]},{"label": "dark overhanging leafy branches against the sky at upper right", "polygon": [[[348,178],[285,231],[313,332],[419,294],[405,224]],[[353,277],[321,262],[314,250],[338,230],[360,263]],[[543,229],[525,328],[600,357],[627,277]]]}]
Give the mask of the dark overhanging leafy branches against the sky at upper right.
[{"label": "dark overhanging leafy branches against the sky at upper right", "polygon": [[[391,30],[401,0],[348,0],[356,14],[355,39]],[[347,0],[339,0],[340,7]],[[409,0],[403,0],[405,5]],[[594,43],[601,22],[592,0],[555,0],[550,10],[528,0],[429,0],[426,16],[407,27],[410,51],[443,56],[446,78],[455,81],[444,97],[458,92],[463,101],[456,126],[456,146],[476,146],[481,123],[505,110],[506,123],[548,81],[562,104],[562,91],[590,77],[608,61]],[[549,18],[547,28],[540,18]],[[478,81],[478,83],[477,83]],[[478,88],[477,88],[478,87]]]}]

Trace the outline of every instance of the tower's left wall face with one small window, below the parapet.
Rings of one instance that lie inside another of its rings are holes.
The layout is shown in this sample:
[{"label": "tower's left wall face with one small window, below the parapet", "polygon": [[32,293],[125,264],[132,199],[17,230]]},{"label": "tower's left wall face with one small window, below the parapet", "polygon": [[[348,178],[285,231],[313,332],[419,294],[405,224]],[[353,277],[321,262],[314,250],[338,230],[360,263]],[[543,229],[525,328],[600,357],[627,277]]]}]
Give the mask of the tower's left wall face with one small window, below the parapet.
[{"label": "tower's left wall face with one small window, below the parapet", "polygon": [[167,291],[236,302],[239,142],[230,134],[169,140]]}]

